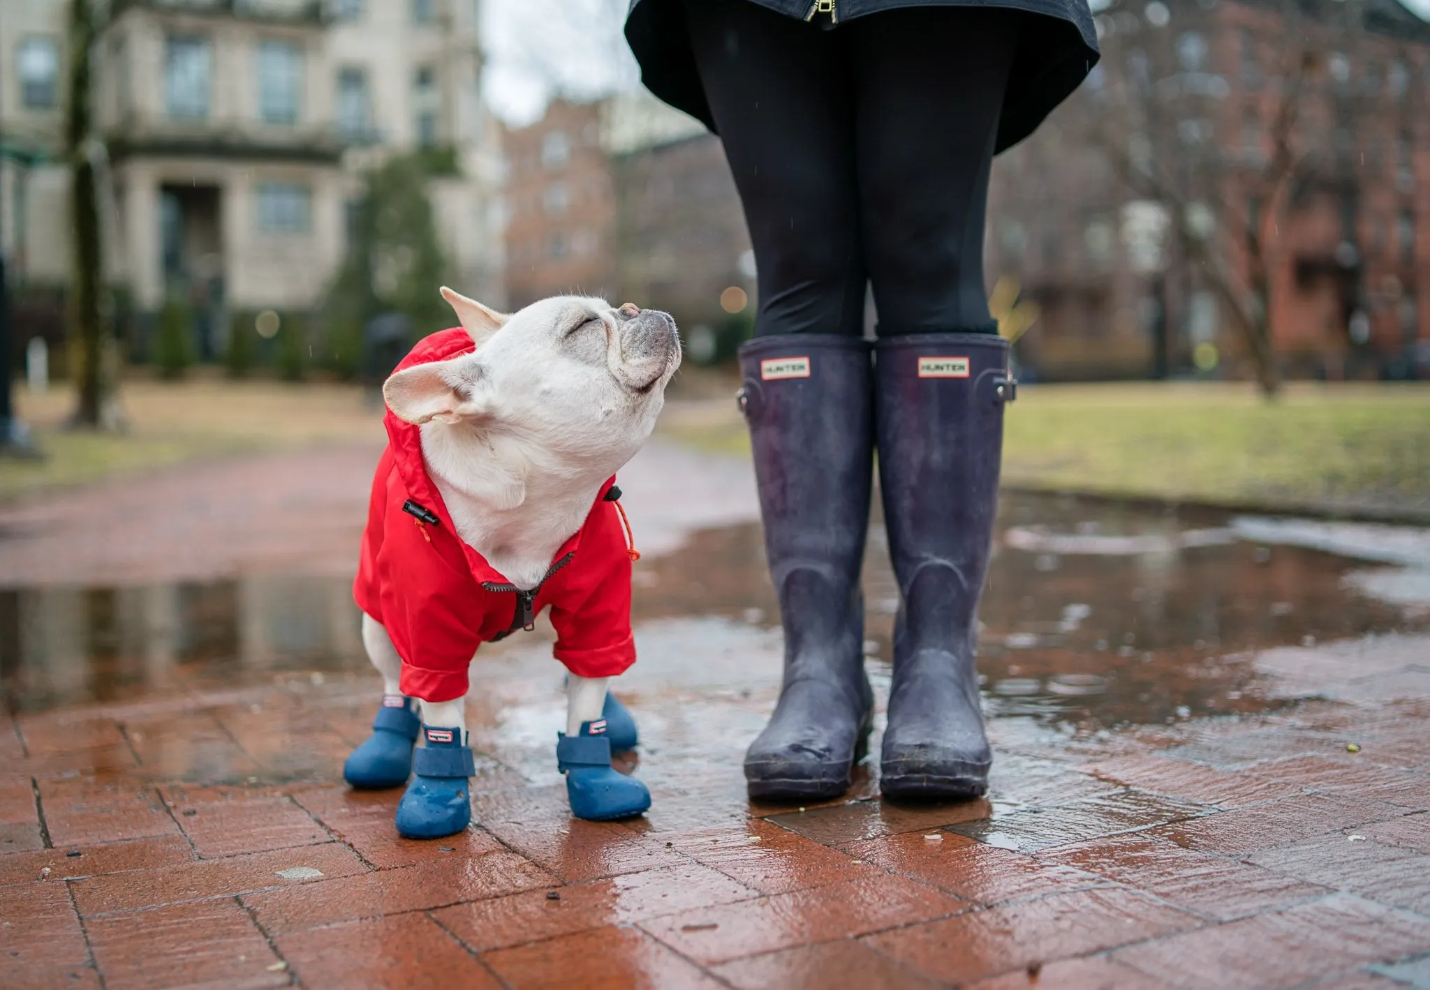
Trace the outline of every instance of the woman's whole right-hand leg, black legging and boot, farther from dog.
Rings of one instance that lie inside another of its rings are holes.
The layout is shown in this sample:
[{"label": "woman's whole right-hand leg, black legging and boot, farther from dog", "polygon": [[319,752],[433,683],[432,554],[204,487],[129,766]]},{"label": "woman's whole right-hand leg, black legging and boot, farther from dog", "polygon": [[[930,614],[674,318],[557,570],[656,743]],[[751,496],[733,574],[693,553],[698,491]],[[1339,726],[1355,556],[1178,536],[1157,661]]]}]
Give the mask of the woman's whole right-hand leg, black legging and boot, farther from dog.
[{"label": "woman's whole right-hand leg, black legging and boot, farther from dog", "polygon": [[879,490],[904,599],[879,777],[892,797],[981,794],[992,761],[974,639],[1012,384],[982,233],[1018,23],[919,9],[851,24]]}]

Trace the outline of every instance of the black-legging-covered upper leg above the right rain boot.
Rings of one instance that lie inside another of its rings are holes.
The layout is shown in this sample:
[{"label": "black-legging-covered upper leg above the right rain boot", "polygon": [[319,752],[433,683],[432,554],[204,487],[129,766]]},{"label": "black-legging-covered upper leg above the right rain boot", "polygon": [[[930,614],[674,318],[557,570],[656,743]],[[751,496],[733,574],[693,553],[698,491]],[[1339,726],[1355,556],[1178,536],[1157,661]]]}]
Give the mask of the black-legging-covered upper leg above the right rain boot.
[{"label": "black-legging-covered upper leg above the right rain boot", "polygon": [[988,173],[1022,14],[908,7],[851,21],[859,217],[879,336],[992,331]]}]

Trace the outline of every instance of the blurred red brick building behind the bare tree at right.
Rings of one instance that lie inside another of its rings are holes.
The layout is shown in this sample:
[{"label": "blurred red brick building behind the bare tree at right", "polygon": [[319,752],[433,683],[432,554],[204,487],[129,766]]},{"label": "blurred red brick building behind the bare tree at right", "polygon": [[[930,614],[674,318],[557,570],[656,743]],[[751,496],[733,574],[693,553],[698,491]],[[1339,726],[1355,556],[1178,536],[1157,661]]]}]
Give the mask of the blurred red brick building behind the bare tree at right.
[{"label": "blurred red brick building behind the bare tree at right", "polygon": [[1396,0],[1117,0],[1104,59],[998,160],[990,279],[1042,379],[1430,374],[1430,24]]}]

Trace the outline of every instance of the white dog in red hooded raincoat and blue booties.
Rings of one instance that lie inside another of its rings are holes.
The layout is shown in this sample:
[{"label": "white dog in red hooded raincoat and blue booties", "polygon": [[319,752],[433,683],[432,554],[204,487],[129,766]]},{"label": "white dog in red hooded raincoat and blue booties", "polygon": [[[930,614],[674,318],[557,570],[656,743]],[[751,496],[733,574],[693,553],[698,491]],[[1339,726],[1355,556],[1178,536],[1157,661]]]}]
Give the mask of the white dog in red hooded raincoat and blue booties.
[{"label": "white dog in red hooded raincoat and blue booties", "polygon": [[[389,444],[373,480],[355,596],[383,677],[356,786],[416,776],[398,809],[409,837],[469,820],[465,696],[482,641],[551,607],[569,673],[558,763],[579,817],[649,806],[611,769],[606,681],[635,660],[629,531],[613,474],[641,449],[681,363],[665,313],[561,296],[513,316],[443,289],[460,330],[422,340],[388,379]],[[419,734],[423,747],[413,757]],[[615,706],[626,719],[623,709]],[[612,723],[616,720],[612,717]],[[629,729],[633,741],[633,723]]]}]

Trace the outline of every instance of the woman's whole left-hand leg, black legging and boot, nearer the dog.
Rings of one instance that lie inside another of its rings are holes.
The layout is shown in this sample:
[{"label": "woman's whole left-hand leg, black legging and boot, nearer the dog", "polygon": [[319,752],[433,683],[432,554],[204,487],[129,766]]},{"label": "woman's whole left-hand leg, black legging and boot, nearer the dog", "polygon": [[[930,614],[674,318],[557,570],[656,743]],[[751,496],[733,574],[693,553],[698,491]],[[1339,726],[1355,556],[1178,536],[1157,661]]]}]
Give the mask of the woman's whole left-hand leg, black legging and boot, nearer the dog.
[{"label": "woman's whole left-hand leg, black legging and boot, nearer the dog", "polygon": [[686,11],[759,271],[742,409],[785,669],[745,779],[752,797],[831,797],[872,709],[859,596],[872,400],[844,40],[748,0]]}]

